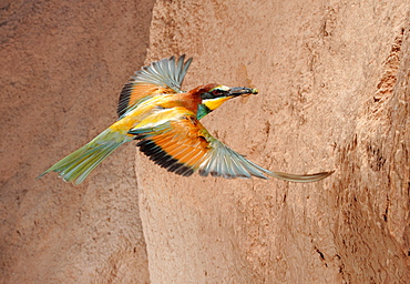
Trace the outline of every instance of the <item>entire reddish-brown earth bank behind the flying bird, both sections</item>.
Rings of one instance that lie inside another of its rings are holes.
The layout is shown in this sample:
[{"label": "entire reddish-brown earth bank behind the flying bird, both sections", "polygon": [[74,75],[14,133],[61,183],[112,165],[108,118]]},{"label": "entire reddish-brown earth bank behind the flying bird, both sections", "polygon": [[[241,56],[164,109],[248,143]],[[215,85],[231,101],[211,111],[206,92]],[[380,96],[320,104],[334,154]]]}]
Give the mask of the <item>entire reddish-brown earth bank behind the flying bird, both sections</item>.
[{"label": "entire reddish-brown earth bank behind the flying bird, both sections", "polygon": [[[0,283],[409,283],[410,1],[2,1]],[[146,53],[146,48],[147,53]],[[255,85],[203,120],[315,184],[189,179],[120,149],[33,179],[115,120],[144,62]],[[137,186],[136,186],[137,185]]]}]

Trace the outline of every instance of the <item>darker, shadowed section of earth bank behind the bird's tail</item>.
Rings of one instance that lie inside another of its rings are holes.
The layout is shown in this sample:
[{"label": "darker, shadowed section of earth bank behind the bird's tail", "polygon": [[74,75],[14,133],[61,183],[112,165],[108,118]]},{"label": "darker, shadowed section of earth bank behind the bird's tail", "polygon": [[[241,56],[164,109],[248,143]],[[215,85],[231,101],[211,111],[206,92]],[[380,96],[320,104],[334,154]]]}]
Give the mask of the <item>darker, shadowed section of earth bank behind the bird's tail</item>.
[{"label": "darker, shadowed section of earth bank behind the bird's tail", "polygon": [[0,283],[148,283],[134,148],[34,178],[116,119],[154,1],[0,1]]}]

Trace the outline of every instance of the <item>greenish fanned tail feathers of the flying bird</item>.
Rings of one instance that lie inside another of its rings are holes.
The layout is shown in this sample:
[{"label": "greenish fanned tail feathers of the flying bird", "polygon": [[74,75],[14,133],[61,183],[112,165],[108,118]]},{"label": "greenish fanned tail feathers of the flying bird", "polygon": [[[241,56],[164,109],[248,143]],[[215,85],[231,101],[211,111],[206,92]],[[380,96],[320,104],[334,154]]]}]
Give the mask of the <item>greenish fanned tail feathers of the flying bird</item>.
[{"label": "greenish fanned tail feathers of the flying bird", "polygon": [[49,172],[58,172],[64,181],[73,182],[75,185],[80,184],[115,149],[131,140],[132,138],[126,134],[106,129],[88,144],[57,162],[37,179]]}]

